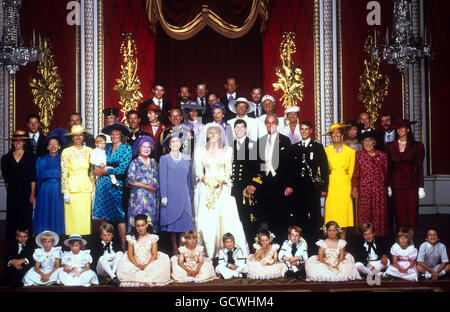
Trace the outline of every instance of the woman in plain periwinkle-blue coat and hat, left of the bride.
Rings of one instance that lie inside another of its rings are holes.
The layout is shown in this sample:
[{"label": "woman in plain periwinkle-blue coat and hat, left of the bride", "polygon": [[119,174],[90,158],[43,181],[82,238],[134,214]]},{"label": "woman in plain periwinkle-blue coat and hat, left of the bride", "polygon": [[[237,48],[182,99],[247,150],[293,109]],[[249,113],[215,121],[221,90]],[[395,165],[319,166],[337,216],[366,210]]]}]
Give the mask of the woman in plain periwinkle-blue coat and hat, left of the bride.
[{"label": "woman in plain periwinkle-blue coat and hat, left of the bride", "polygon": [[177,234],[193,229],[191,200],[191,161],[180,152],[182,140],[189,133],[173,132],[163,144],[169,145],[170,153],[159,160],[159,178],[161,187],[161,231],[169,232],[173,254],[179,254]]}]

